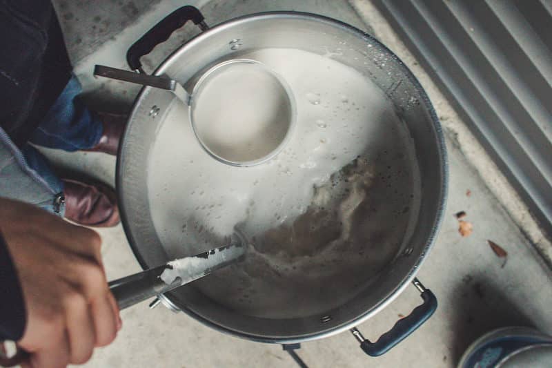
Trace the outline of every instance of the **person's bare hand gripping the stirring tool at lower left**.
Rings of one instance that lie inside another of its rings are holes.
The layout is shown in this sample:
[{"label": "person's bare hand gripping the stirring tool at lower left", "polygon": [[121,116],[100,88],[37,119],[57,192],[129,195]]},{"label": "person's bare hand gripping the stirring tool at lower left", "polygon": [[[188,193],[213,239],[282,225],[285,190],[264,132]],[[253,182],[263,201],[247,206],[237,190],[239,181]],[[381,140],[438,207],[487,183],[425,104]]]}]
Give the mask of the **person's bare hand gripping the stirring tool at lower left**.
[{"label": "person's bare hand gripping the stirring tool at lower left", "polygon": [[27,312],[22,367],[82,364],[121,329],[101,262],[101,238],[34,206],[0,199],[0,231],[12,255]]}]

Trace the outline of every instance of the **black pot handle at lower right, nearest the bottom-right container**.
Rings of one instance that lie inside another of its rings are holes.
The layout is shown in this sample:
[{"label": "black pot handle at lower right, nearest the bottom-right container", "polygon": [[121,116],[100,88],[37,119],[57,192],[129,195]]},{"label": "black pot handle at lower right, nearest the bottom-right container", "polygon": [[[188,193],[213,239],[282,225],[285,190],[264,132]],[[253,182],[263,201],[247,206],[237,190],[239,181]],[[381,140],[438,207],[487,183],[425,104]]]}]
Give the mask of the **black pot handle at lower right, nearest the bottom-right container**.
[{"label": "black pot handle at lower right, nearest the bottom-right container", "polygon": [[385,354],[408,335],[416,331],[418,327],[433,315],[435,309],[437,309],[437,298],[435,298],[435,294],[433,294],[431,290],[426,289],[417,278],[413,280],[413,284],[420,290],[420,296],[422,296],[424,300],[423,304],[415,307],[410,315],[398,320],[395,326],[380,336],[376,342],[366,340],[356,327],[351,329],[355,338],[360,342],[360,347],[369,356],[380,356]]}]

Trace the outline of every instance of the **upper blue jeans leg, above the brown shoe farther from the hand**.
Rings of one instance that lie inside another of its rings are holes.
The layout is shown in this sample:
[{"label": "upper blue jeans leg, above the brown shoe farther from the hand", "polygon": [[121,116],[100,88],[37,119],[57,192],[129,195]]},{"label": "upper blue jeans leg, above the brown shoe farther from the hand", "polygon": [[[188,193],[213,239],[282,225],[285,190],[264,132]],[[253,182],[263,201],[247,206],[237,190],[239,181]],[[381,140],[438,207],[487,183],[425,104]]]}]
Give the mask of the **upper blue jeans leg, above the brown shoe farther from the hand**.
[{"label": "upper blue jeans leg, above the brown shoe farther from the hand", "polygon": [[30,142],[70,152],[95,146],[103,133],[103,126],[78,98],[81,91],[81,84],[73,75],[32,133]]}]

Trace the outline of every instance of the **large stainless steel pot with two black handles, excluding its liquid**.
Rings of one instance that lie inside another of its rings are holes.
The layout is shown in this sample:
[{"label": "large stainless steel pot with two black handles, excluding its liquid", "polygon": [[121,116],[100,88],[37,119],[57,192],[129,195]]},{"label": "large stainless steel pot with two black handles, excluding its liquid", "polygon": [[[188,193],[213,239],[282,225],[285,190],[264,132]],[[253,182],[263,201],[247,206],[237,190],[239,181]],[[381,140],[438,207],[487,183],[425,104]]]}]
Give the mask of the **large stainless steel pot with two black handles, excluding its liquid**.
[{"label": "large stainless steel pot with two black handles, excluding its liquid", "polygon": [[[361,71],[380,86],[408,126],[420,166],[422,199],[417,219],[412,224],[412,235],[394,260],[364,291],[325,313],[289,319],[244,316],[206,298],[194,287],[182,287],[161,296],[161,300],[172,309],[184,311],[219,331],[261,342],[288,344],[352,329],[414,282],[422,293],[424,304],[411,316],[397,322],[380,340],[368,342],[359,331],[351,330],[368,354],[383,354],[420,326],[437,307],[431,291],[415,279],[440,226],[447,182],[442,130],[426,93],[402,61],[371,35],[333,19],[297,12],[251,14],[208,28],[197,9],[181,8],[130,48],[130,68],[143,72],[139,58],[187,20],[194,21],[204,32],[181,46],[155,71],[155,75],[168,75],[183,84],[192,84],[202,70],[237,57],[244,50],[299,48],[322,55],[325,50],[336,50],[346,44],[347,50],[335,53],[333,58]],[[122,222],[132,250],[144,269],[168,260],[150,216],[145,168],[156,130],[172,99],[173,96],[163,90],[146,87],[141,91],[117,159]]]}]

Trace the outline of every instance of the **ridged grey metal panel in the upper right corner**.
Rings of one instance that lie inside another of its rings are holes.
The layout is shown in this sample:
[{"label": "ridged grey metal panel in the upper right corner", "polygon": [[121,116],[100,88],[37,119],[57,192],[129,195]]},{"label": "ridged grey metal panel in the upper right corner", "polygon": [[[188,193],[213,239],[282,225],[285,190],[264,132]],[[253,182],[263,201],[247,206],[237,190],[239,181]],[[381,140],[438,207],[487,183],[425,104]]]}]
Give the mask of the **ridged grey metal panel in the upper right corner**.
[{"label": "ridged grey metal panel in the upper right corner", "polygon": [[552,235],[552,2],[375,4]]}]

